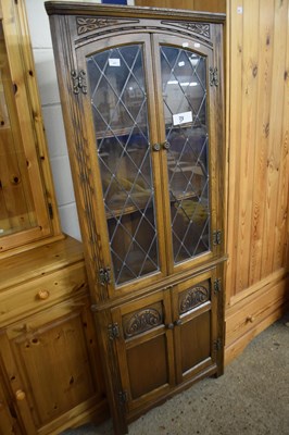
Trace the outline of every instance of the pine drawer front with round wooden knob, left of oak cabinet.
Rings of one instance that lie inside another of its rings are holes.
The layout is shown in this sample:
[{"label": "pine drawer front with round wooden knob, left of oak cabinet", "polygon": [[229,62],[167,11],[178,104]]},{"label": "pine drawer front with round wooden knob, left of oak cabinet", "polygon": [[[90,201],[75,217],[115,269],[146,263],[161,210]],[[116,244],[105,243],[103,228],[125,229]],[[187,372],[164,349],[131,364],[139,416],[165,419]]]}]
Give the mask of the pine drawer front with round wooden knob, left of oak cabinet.
[{"label": "pine drawer front with round wooden knob, left of oak cabinet", "polygon": [[0,294],[0,327],[76,296],[87,285],[84,262],[15,286]]}]

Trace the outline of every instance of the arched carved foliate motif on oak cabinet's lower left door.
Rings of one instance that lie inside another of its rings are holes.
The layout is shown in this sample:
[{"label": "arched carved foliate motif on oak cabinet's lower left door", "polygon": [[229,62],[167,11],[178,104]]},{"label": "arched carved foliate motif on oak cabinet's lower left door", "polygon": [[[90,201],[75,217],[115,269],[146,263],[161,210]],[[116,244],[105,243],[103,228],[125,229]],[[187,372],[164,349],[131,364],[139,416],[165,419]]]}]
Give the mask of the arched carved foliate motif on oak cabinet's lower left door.
[{"label": "arched carved foliate motif on oak cabinet's lower left door", "polygon": [[126,338],[159,326],[163,323],[162,313],[154,308],[146,308],[136,312],[124,326]]}]

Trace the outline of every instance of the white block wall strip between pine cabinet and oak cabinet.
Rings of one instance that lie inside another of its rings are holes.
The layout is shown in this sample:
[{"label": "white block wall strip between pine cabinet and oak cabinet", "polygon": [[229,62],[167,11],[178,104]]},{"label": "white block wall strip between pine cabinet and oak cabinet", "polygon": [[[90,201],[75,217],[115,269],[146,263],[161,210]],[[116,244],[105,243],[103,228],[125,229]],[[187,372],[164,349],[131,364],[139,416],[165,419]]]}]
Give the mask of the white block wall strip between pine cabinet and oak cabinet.
[{"label": "white block wall strip between pine cabinet and oak cabinet", "polygon": [[[100,0],[93,0],[100,3]],[[25,0],[62,231],[80,240],[45,0]],[[127,4],[134,4],[128,0]]]}]

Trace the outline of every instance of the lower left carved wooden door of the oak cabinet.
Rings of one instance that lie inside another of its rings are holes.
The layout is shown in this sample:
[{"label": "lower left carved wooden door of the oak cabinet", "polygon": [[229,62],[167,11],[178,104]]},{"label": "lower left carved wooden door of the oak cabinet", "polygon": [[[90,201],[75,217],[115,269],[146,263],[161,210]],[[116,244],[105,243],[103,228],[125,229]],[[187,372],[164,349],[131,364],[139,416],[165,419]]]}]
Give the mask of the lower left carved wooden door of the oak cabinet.
[{"label": "lower left carved wooden door of the oak cabinet", "polygon": [[121,325],[115,341],[128,413],[164,396],[175,383],[169,299],[164,289],[113,310]]}]

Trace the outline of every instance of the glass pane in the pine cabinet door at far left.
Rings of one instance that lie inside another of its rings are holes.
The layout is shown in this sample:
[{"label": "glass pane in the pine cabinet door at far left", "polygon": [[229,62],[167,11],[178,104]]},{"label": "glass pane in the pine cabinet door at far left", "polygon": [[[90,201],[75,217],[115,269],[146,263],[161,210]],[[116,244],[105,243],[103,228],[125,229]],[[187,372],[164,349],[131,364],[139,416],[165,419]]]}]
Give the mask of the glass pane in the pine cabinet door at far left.
[{"label": "glass pane in the pine cabinet door at far left", "polygon": [[0,24],[0,237],[37,225]]}]

